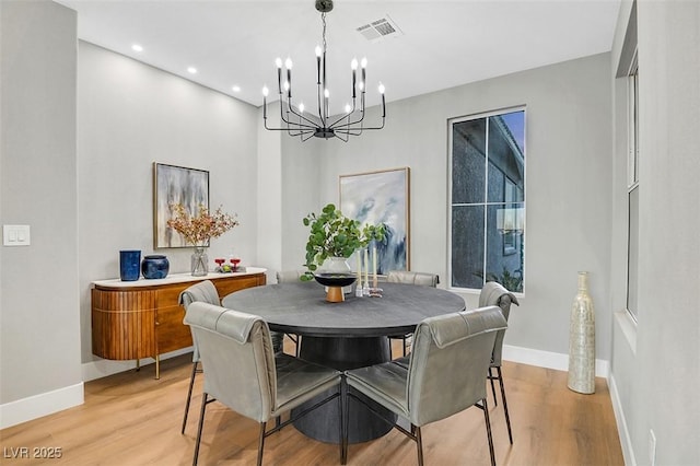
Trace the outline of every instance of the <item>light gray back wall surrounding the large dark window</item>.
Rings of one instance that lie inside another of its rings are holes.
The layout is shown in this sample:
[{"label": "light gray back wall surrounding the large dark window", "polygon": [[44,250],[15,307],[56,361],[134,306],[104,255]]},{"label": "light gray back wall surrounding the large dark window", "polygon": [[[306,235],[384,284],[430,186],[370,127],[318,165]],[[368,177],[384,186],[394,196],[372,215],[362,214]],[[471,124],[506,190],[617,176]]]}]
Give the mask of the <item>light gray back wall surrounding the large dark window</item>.
[{"label": "light gray back wall surrounding the large dark window", "polygon": [[[339,175],[410,166],[411,269],[438,272],[444,284],[447,119],[526,105],[526,289],[511,314],[506,343],[568,353],[576,272],[588,270],[597,312],[596,357],[608,360],[609,77],[610,57],[603,54],[390,102],[382,131],[368,131],[347,144],[322,142],[318,205],[338,201]],[[390,88],[387,93],[390,98]],[[376,110],[370,112],[370,121]],[[291,219],[285,229],[299,220]],[[476,294],[464,298],[477,306]]]}]

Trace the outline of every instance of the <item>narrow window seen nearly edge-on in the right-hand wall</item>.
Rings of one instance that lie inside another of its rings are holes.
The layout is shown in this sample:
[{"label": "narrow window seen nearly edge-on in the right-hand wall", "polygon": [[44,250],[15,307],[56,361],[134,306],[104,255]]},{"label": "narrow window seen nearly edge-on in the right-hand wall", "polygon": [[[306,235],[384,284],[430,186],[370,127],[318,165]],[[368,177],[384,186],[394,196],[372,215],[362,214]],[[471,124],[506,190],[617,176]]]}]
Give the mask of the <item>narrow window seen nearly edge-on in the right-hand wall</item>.
[{"label": "narrow window seen nearly edge-on in the right-hand wall", "polygon": [[639,292],[639,68],[637,56],[632,60],[628,83],[627,310],[637,321]]}]

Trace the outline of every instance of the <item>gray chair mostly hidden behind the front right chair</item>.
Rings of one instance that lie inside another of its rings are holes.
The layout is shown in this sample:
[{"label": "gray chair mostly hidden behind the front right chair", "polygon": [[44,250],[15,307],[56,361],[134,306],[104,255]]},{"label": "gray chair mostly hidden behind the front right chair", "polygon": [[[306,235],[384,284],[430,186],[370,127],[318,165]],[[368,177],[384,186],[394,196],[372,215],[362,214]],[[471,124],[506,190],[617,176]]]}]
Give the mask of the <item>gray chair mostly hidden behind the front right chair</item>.
[{"label": "gray chair mostly hidden behind the front right chair", "polygon": [[[508,291],[503,286],[495,281],[487,282],[481,289],[479,294],[479,307],[483,306],[499,306],[503,313],[503,317],[508,322],[508,317],[511,314],[511,304],[520,305],[517,299],[513,293]],[[501,400],[503,401],[503,412],[505,413],[505,426],[508,426],[508,438],[513,444],[513,432],[511,430],[511,417],[508,412],[508,401],[505,399],[505,387],[503,386],[503,373],[501,372],[502,354],[503,354],[503,338],[505,337],[505,329],[500,330],[495,336],[495,343],[493,345],[493,354],[491,356],[491,364],[489,365],[488,380],[491,382],[491,393],[493,394],[493,403],[498,406],[498,399],[495,398],[495,386],[493,381],[498,380],[501,385]],[[495,375],[493,370],[495,369]]]}]

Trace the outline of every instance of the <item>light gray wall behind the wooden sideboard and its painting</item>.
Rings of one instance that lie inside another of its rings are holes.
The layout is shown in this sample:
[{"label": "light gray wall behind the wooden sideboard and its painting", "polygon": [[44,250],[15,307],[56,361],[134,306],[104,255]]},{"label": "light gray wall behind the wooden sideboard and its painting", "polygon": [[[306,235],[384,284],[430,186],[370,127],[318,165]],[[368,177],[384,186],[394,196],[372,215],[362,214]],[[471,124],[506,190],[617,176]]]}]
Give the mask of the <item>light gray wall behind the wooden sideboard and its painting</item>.
[{"label": "light gray wall behind the wooden sideboard and its painting", "polygon": [[209,171],[210,205],[241,224],[211,242],[257,265],[257,109],[201,85],[80,42],[78,151],[81,342],[91,343],[90,282],[119,276],[119,249],[159,252],[171,271],[189,269],[191,248],[153,249],[153,162]]}]

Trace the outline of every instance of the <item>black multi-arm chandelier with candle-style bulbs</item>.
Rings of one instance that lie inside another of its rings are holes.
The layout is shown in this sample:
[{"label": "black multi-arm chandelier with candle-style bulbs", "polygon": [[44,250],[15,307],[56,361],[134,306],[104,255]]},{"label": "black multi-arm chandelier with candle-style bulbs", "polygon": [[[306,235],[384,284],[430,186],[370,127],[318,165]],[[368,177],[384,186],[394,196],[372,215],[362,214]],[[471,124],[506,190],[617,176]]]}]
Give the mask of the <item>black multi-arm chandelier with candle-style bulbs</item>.
[{"label": "black multi-arm chandelier with candle-style bulbs", "polygon": [[[330,115],[329,96],[330,92],[326,85],[326,13],[332,10],[332,0],[316,0],[316,10],[320,12],[323,23],[323,48],[316,46],[316,88],[318,106],[317,115],[304,113],[302,102],[295,105],[292,101],[292,60],[288,58],[284,62],[287,80],[282,82],[282,60],[278,58],[277,65],[277,89],[280,101],[280,119],[283,123],[281,128],[271,128],[267,125],[267,96],[269,90],[262,88],[262,119],[265,129],[287,131],[289,136],[299,136],[302,141],[308,140],[312,136],[316,138],[339,138],[347,142],[350,136],[360,136],[363,130],[382,129],[386,119],[386,104],[384,101],[384,85],[380,82],[380,94],[382,95],[382,125],[376,127],[365,127],[364,121],[364,93],[366,89],[366,58],[360,63],[352,59],[350,68],[352,70],[352,104],[348,103],[345,113]],[[358,81],[358,65],[361,67],[360,81]],[[358,97],[358,94],[360,96]],[[360,101],[358,103],[358,100]]]}]

